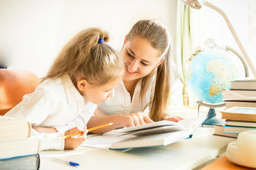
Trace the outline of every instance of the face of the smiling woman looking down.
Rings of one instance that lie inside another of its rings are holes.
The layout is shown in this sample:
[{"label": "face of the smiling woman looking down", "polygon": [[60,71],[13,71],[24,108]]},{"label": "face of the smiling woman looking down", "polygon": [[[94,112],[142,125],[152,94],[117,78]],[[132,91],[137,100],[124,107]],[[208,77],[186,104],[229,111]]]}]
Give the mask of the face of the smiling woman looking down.
[{"label": "face of the smiling woman looking down", "polygon": [[139,36],[134,36],[124,44],[122,55],[125,64],[124,81],[145,77],[159,65],[159,50]]}]

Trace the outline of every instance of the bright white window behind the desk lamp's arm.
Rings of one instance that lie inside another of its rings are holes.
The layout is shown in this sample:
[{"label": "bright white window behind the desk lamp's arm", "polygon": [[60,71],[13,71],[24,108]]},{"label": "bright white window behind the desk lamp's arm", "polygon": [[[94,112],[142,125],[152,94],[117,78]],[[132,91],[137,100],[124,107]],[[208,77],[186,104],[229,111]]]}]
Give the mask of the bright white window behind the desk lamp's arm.
[{"label": "bright white window behind the desk lamp's arm", "polygon": [[[256,67],[256,1],[255,0],[214,0],[211,4],[222,9],[233,25],[238,38],[245,47],[252,64]],[[204,38],[214,38],[218,45],[228,45],[237,50],[240,48],[220,14],[207,6],[203,6]],[[252,73],[250,72],[250,77]]]}]

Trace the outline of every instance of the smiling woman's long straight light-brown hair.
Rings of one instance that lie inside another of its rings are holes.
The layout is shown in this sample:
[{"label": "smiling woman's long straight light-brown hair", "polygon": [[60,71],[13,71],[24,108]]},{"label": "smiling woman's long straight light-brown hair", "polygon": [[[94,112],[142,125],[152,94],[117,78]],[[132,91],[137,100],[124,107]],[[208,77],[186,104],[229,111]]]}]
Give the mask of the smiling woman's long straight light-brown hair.
[{"label": "smiling woman's long straight light-brown hair", "polygon": [[[170,68],[171,68],[171,35],[166,26],[160,21],[154,19],[145,19],[138,21],[129,31],[125,42],[131,40],[134,36],[139,36],[144,40],[148,40],[151,46],[161,52],[159,61],[164,59],[156,72],[156,86],[154,89],[154,98],[151,101],[151,108],[149,117],[154,121],[163,120],[165,117],[164,111],[166,110],[169,92],[170,92]],[[125,43],[124,42],[124,43]],[[154,70],[151,71],[146,77],[142,77],[142,91],[140,94],[141,101],[144,98],[146,91],[149,87],[151,77],[155,74]]]}]

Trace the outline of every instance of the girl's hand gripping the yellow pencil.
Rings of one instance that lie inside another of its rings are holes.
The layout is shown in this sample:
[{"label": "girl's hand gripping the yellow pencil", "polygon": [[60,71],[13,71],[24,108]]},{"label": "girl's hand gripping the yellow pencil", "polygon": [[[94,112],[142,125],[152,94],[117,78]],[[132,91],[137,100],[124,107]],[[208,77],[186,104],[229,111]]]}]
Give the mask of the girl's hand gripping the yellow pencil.
[{"label": "girl's hand gripping the yellow pencil", "polygon": [[[71,128],[70,130],[65,131],[65,135],[70,135],[75,132],[81,132],[84,131],[85,129],[80,129],[78,127]],[[82,142],[85,141],[86,135],[87,135],[88,130],[85,130],[80,136],[73,136],[73,137],[68,137],[65,139],[65,149],[75,149],[78,147]]]}]

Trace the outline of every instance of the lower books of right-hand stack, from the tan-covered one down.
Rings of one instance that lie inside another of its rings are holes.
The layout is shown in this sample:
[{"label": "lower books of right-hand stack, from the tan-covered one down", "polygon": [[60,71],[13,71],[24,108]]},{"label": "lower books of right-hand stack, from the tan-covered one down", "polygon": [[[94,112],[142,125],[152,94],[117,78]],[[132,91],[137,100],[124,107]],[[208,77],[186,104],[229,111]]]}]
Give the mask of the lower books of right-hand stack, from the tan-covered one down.
[{"label": "lower books of right-hand stack, from the tan-covered one down", "polygon": [[245,130],[256,130],[256,108],[231,107],[220,112],[225,124],[214,125],[214,135],[238,137]]}]

